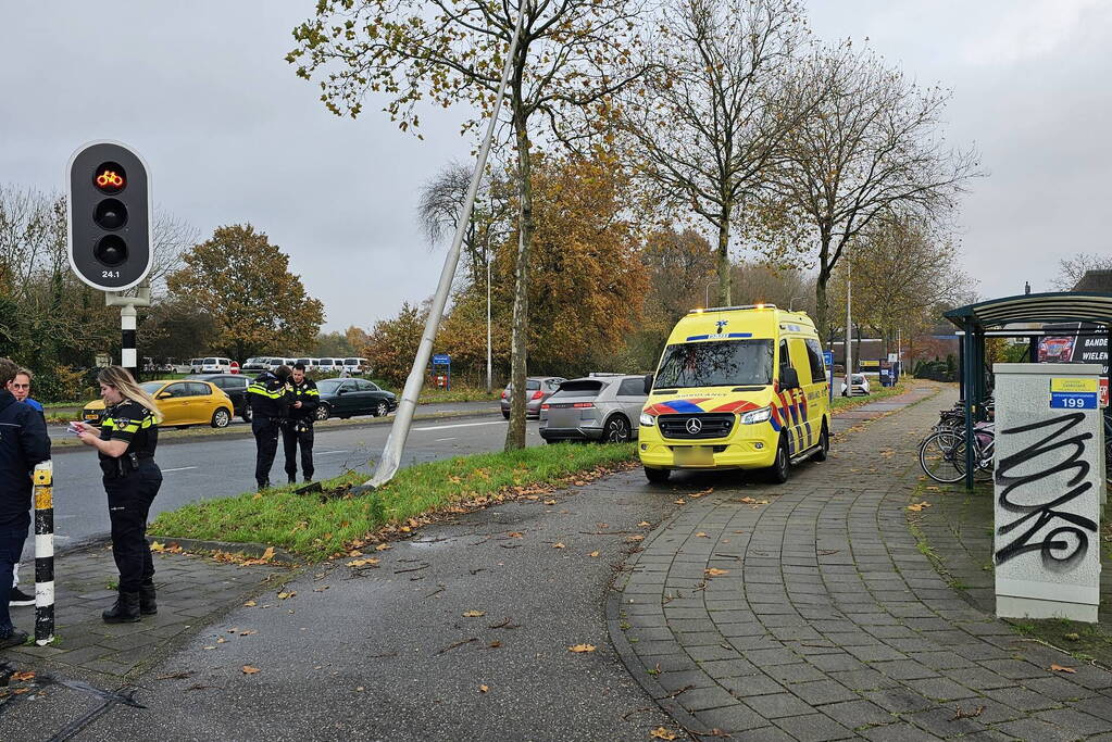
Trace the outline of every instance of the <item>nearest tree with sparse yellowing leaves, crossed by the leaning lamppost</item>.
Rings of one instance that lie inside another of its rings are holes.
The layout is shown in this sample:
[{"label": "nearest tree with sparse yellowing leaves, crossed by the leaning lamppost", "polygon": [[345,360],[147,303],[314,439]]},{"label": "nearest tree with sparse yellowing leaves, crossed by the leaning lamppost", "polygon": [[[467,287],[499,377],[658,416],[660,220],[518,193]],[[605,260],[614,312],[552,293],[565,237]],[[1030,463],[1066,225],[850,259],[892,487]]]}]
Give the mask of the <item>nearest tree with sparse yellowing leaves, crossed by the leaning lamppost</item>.
[{"label": "nearest tree with sparse yellowing leaves, crossed by the leaning lamppost", "polygon": [[[609,98],[641,74],[631,52],[645,0],[320,0],[315,18],[294,30],[287,60],[298,76],[319,76],[325,106],[358,116],[368,93],[389,97],[385,111],[405,130],[418,124],[416,104],[429,100],[476,110],[465,131],[488,112],[518,16],[522,33],[507,90],[518,189],[514,273],[512,383],[525,389],[529,245],[533,218],[533,137],[542,126],[559,136],[584,109],[606,117]],[[572,116],[567,116],[570,113]],[[514,394],[506,449],[525,447],[525,394]]]}]

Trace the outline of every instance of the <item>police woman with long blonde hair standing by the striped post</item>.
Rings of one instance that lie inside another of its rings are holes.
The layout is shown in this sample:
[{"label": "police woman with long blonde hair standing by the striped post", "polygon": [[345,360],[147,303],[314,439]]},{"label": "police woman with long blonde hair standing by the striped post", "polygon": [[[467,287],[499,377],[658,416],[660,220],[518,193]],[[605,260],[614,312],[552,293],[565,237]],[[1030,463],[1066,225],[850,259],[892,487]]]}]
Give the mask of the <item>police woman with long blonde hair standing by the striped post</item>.
[{"label": "police woman with long blonde hair standing by the striped post", "polygon": [[140,615],[158,613],[147,515],[162,487],[162,472],[155,463],[160,414],[127,369],[110,365],[97,381],[105,400],[100,431],[88,423],[77,425],[81,442],[97,449],[100,459],[112,524],[112,558],[120,571],[119,596],[101,618],[106,623],[133,623]]}]

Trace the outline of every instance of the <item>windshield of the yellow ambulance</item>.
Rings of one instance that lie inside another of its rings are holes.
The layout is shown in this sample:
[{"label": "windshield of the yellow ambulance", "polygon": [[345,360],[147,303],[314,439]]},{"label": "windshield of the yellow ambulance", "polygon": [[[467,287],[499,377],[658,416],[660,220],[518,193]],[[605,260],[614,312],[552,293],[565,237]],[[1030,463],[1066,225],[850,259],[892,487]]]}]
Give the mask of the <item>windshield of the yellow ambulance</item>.
[{"label": "windshield of the yellow ambulance", "polygon": [[668,345],[655,389],[772,383],[771,340],[721,340]]}]

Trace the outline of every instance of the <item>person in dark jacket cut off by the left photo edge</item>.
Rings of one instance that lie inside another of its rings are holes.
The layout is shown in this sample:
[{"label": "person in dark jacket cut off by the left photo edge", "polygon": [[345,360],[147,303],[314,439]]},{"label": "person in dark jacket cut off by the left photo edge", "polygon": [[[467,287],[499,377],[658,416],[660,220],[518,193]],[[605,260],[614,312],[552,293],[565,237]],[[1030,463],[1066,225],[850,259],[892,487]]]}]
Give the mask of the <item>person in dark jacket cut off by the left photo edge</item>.
[{"label": "person in dark jacket cut off by the left photo edge", "polygon": [[18,371],[11,360],[0,358],[0,649],[27,641],[27,633],[11,623],[7,589],[31,525],[31,473],[34,464],[50,458],[42,413],[17,402],[7,389]]}]

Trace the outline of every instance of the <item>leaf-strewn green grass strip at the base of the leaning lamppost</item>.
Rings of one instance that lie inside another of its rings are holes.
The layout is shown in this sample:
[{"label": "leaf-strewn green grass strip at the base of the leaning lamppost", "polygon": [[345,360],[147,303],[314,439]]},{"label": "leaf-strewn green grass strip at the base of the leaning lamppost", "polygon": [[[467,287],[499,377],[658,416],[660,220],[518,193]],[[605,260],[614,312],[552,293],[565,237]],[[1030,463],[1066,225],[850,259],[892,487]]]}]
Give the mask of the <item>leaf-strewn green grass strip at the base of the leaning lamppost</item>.
[{"label": "leaf-strewn green grass strip at the base of the leaning lamppost", "polygon": [[148,529],[160,538],[265,543],[311,560],[341,554],[386,531],[408,531],[437,512],[464,512],[554,487],[594,479],[636,459],[633,443],[559,443],[479,453],[400,470],[378,490],[347,490],[366,474],[348,472],[322,482],[324,493],[292,488],[195,502],[161,513]]}]

